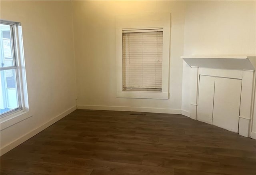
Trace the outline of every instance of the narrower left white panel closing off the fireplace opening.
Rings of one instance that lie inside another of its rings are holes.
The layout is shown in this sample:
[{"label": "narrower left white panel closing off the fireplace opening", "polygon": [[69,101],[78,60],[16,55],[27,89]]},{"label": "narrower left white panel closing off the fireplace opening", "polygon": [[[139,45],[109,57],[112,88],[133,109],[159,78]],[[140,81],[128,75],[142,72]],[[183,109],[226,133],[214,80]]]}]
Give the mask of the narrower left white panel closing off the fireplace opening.
[{"label": "narrower left white panel closing off the fireplace opening", "polygon": [[215,77],[200,75],[197,119],[211,125],[214,99],[214,83]]}]

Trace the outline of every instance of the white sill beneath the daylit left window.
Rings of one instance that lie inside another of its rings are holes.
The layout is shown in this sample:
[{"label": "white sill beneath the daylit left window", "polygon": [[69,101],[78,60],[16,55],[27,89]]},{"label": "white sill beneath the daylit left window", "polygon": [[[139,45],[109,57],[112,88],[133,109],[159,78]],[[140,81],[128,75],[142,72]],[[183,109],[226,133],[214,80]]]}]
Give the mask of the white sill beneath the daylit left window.
[{"label": "white sill beneath the daylit left window", "polygon": [[0,119],[0,131],[32,117],[28,111],[18,111]]}]

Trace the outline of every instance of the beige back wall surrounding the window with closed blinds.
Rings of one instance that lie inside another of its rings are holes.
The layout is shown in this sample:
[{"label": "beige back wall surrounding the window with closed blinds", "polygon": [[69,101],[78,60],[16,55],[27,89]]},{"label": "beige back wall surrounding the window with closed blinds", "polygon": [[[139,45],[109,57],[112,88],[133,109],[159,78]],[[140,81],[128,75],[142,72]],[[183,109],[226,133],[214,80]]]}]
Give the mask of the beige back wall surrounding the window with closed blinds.
[{"label": "beige back wall surrounding the window with closed blinds", "polygon": [[[88,109],[180,113],[184,10],[182,1],[73,1],[77,105]],[[116,98],[115,16],[171,14],[170,99]],[[110,107],[110,108],[109,108]],[[162,110],[166,109],[166,110]],[[172,110],[174,109],[174,110]]]}]

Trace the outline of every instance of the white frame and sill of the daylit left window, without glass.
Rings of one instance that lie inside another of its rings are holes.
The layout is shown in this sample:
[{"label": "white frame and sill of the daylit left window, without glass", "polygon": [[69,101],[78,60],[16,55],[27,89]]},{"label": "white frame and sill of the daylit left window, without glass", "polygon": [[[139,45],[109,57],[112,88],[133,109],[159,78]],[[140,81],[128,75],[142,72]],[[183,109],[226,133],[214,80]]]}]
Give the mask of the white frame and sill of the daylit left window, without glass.
[{"label": "white frame and sill of the daylit left window, without glass", "polygon": [[[14,125],[28,117],[32,117],[28,105],[28,91],[26,83],[26,71],[25,71],[25,60],[24,60],[24,49],[23,49],[23,38],[22,38],[22,27],[19,22],[12,22],[6,20],[0,20],[1,24],[7,24],[13,26],[13,45],[16,62],[16,79],[17,89],[19,98],[19,107],[16,110],[4,113],[0,116],[0,130],[6,129],[11,125]],[[1,70],[5,70],[2,68]]]}]

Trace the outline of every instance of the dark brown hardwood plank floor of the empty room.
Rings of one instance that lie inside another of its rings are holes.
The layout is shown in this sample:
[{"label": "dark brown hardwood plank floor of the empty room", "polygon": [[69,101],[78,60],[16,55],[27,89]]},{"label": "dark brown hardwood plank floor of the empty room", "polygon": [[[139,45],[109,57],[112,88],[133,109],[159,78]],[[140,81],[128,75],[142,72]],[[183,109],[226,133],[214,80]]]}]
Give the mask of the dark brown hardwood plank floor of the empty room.
[{"label": "dark brown hardwood plank floor of the empty room", "polygon": [[183,115],[76,110],[1,156],[1,175],[256,175],[256,140]]}]

